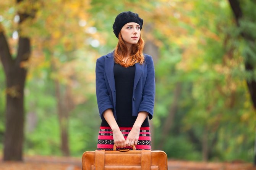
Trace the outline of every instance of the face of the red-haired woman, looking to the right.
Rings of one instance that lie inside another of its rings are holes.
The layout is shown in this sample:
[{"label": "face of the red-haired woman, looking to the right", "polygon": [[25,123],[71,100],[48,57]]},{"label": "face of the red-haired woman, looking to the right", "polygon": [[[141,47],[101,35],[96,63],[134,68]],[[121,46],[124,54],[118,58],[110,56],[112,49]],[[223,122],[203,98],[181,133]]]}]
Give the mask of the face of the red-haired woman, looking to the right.
[{"label": "face of the red-haired woman, looking to the right", "polygon": [[120,32],[125,44],[132,45],[138,43],[141,29],[136,22],[129,22],[122,27]]}]

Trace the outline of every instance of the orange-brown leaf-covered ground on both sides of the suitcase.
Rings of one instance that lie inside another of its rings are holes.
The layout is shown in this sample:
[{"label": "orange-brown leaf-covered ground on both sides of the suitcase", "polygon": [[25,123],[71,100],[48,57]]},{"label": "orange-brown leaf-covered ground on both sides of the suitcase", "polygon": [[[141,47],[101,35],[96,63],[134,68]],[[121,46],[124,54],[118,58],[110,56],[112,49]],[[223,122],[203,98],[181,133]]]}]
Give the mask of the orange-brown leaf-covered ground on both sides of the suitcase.
[{"label": "orange-brown leaf-covered ground on both sides of the suitcase", "polygon": [[[1,159],[2,160],[2,159]],[[0,170],[81,170],[81,158],[25,156],[24,162],[2,162]],[[249,163],[212,163],[169,160],[168,170],[256,170]]]}]

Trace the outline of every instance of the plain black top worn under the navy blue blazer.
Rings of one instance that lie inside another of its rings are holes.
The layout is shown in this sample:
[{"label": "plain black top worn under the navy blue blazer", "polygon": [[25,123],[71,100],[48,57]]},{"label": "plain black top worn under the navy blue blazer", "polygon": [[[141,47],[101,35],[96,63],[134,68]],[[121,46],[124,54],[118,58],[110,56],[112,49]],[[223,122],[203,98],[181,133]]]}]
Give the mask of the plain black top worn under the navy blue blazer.
[{"label": "plain black top worn under the navy blue blazer", "polygon": [[[117,124],[119,127],[133,127],[136,116],[132,116],[133,83],[135,75],[135,65],[123,67],[120,64],[114,64],[114,78],[116,91],[116,112]],[[100,126],[108,126],[105,119],[102,119]],[[149,127],[148,118],[146,118],[141,127]]]}]

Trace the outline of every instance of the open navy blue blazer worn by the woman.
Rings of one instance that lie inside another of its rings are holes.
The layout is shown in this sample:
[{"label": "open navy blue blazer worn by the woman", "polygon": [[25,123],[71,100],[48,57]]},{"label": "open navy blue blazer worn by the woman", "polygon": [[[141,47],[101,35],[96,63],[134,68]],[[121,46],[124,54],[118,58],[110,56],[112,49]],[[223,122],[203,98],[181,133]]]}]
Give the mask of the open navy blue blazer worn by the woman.
[{"label": "open navy blue blazer worn by the woman", "polygon": [[[144,64],[135,64],[132,115],[138,116],[139,112],[146,111],[149,113],[149,119],[152,119],[156,91],[155,70],[152,57],[143,55]],[[117,120],[114,63],[113,51],[101,56],[96,62],[96,96],[101,119],[104,118],[104,111],[111,108]]]}]

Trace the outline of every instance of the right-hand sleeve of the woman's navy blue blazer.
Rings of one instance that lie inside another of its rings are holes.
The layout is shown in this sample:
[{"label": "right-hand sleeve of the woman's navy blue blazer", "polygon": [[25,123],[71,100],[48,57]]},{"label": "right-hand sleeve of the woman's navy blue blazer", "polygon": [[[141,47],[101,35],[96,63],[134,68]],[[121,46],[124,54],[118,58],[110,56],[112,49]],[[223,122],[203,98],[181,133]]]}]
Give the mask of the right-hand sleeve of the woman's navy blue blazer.
[{"label": "right-hand sleeve of the woman's navy blue blazer", "polygon": [[147,77],[143,88],[142,101],[138,112],[146,111],[149,113],[149,119],[153,117],[154,103],[155,103],[155,69],[151,56],[145,58],[147,64]]}]

